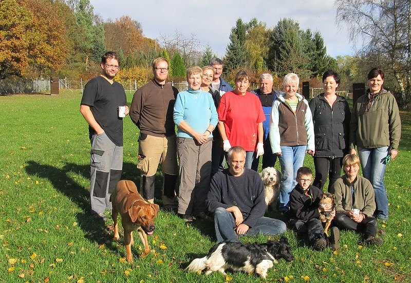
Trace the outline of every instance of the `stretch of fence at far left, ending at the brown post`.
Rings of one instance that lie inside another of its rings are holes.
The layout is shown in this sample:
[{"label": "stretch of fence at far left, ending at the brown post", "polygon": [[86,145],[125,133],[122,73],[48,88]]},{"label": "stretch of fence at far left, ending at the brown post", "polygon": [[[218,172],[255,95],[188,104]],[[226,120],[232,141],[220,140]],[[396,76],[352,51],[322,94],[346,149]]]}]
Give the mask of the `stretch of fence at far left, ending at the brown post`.
[{"label": "stretch of fence at far left, ending at the brown post", "polygon": [[0,80],[0,95],[50,92],[50,79]]}]

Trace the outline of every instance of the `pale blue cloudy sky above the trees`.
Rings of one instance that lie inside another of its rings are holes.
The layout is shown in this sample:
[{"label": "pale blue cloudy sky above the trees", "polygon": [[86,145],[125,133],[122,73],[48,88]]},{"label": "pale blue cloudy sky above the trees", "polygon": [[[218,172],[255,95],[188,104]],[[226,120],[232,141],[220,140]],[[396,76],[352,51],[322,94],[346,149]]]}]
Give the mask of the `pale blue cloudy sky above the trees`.
[{"label": "pale blue cloudy sky above the trees", "polygon": [[222,57],[226,53],[231,28],[238,17],[249,22],[256,17],[273,28],[282,18],[292,18],[303,30],[319,31],[331,56],[352,55],[347,28],[335,21],[331,0],[90,0],[95,13],[104,20],[128,15],[138,21],[143,34],[152,39],[195,34],[202,48],[209,45]]}]

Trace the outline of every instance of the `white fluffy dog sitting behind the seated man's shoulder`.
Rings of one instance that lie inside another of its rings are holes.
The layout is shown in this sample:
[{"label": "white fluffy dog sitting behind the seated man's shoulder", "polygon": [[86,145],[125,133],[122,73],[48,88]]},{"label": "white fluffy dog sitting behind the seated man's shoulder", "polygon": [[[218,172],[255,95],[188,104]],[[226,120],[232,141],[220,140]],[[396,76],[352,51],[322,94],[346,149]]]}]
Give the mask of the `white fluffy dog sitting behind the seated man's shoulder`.
[{"label": "white fluffy dog sitting behind the seated man's shoulder", "polygon": [[266,200],[267,210],[278,210],[279,185],[283,175],[274,167],[264,168],[260,173],[261,179],[264,183],[264,198]]}]

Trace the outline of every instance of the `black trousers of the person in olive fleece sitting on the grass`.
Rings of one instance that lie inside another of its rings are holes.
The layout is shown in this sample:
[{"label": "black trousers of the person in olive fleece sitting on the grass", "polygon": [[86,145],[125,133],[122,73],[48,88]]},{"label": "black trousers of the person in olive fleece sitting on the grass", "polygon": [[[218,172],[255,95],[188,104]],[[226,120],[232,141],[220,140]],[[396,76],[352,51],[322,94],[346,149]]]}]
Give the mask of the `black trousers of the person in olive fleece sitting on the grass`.
[{"label": "black trousers of the person in olive fleece sitting on the grass", "polygon": [[339,229],[362,233],[364,239],[377,234],[377,220],[373,216],[365,217],[361,223],[357,223],[344,213],[337,213],[334,217],[334,225]]}]

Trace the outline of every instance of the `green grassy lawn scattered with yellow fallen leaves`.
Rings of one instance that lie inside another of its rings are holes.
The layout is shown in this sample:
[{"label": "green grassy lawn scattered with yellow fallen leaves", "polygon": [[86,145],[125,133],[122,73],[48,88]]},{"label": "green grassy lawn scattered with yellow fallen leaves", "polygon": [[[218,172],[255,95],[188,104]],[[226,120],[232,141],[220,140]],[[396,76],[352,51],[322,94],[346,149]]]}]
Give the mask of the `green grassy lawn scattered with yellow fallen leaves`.
[{"label": "green grassy lawn scattered with yellow fallen leaves", "polygon": [[[128,264],[122,242],[111,241],[112,221],[105,225],[89,215],[90,142],[80,100],[79,91],[0,97],[0,282],[263,281],[244,273],[184,272],[181,267],[215,244],[213,223],[186,225],[165,212],[149,238],[152,254],[138,257],[142,244],[135,235],[134,263]],[[359,235],[343,231],[338,252],[315,252],[287,231],[296,260],[281,260],[265,281],[411,281],[411,114],[401,116],[400,154],[388,164],[385,178],[390,219],[383,246],[362,247]],[[125,118],[123,179],[138,185],[137,138],[137,127]],[[309,156],[306,165],[313,168]],[[244,239],[255,240],[267,238]]]}]

